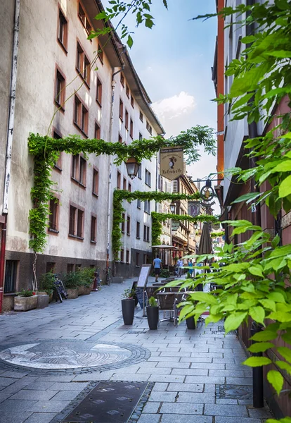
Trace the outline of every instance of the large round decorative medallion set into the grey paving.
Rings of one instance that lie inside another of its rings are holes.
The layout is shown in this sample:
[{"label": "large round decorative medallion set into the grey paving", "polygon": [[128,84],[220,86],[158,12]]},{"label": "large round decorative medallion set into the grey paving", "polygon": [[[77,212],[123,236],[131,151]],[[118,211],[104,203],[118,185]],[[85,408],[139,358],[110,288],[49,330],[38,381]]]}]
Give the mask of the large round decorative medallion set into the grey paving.
[{"label": "large round decorative medallion set into the grey paving", "polygon": [[89,341],[44,340],[4,348],[0,352],[0,360],[18,369],[93,368],[96,371],[134,364],[149,356],[148,350],[137,345]]}]

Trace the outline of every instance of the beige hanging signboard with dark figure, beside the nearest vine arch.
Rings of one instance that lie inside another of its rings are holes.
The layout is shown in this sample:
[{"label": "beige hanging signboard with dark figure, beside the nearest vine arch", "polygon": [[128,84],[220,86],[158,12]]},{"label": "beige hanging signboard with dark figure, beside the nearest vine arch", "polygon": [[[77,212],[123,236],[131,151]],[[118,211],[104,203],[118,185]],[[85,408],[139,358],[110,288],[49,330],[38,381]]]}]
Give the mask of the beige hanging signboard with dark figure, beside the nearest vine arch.
[{"label": "beige hanging signboard with dark figure, beside the nearest vine arch", "polygon": [[160,149],[160,174],[169,180],[183,175],[183,147]]}]

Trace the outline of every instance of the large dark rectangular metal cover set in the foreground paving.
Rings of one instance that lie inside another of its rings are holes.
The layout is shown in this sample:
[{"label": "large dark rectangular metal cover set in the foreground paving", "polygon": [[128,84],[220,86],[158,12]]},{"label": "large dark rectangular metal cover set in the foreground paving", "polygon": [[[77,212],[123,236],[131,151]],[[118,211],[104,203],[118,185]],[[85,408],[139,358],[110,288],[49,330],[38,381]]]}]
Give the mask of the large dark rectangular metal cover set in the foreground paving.
[{"label": "large dark rectangular metal cover set in the foreground paving", "polygon": [[126,423],[147,382],[99,382],[63,423]]}]

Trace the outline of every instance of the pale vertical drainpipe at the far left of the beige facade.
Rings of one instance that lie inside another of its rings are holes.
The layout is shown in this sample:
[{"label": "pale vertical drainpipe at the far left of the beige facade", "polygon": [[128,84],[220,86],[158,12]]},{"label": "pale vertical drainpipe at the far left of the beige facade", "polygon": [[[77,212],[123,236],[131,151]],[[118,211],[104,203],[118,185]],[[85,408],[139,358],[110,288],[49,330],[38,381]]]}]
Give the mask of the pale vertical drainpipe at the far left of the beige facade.
[{"label": "pale vertical drainpipe at the far left of the beige facade", "polygon": [[20,0],[15,0],[13,50],[12,50],[12,59],[11,59],[11,84],[10,84],[10,92],[9,92],[8,129],[7,129],[7,140],[6,140],[6,166],[5,166],[3,210],[2,210],[2,214],[4,215],[4,222],[2,222],[1,250],[0,250],[0,313],[2,312],[2,303],[3,303],[3,294],[4,294],[6,222],[7,222],[7,214],[8,214],[8,192],[9,192],[9,184],[10,184],[10,178],[11,178],[11,152],[12,152],[13,132],[14,132],[18,40],[19,40],[19,16],[20,16]]}]

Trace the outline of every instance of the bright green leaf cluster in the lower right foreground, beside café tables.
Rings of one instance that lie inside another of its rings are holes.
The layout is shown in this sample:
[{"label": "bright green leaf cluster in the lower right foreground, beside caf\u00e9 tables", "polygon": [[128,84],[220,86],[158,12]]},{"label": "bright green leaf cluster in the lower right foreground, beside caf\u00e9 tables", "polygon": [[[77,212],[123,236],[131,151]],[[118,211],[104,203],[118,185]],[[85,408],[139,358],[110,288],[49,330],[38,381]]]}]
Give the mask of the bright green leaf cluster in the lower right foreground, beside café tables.
[{"label": "bright green leaf cluster in the lower right foreground, beside caf\u00e9 tables", "polygon": [[[217,289],[210,293],[190,294],[188,300],[181,303],[183,308],[179,321],[191,316],[197,321],[203,312],[209,311],[206,324],[225,319],[224,329],[228,333],[243,323],[248,324],[251,317],[264,327],[264,331],[252,336],[256,343],[248,349],[251,353],[261,352],[265,356],[247,358],[243,364],[257,367],[273,363],[277,369],[291,375],[291,245],[279,247],[278,235],[271,240],[269,233],[249,221],[225,223],[234,227],[232,235],[247,231],[251,231],[252,235],[239,245],[216,247],[214,255],[193,256],[197,262],[214,257],[218,260],[212,264],[212,273],[199,274],[194,281],[186,280],[181,288],[213,283]],[[209,266],[204,266],[204,269],[209,269]],[[168,286],[177,284],[175,281]],[[278,346],[274,341],[279,338],[289,346]],[[276,360],[271,359],[271,350]],[[284,382],[282,374],[272,369],[267,378],[279,395]]]}]

